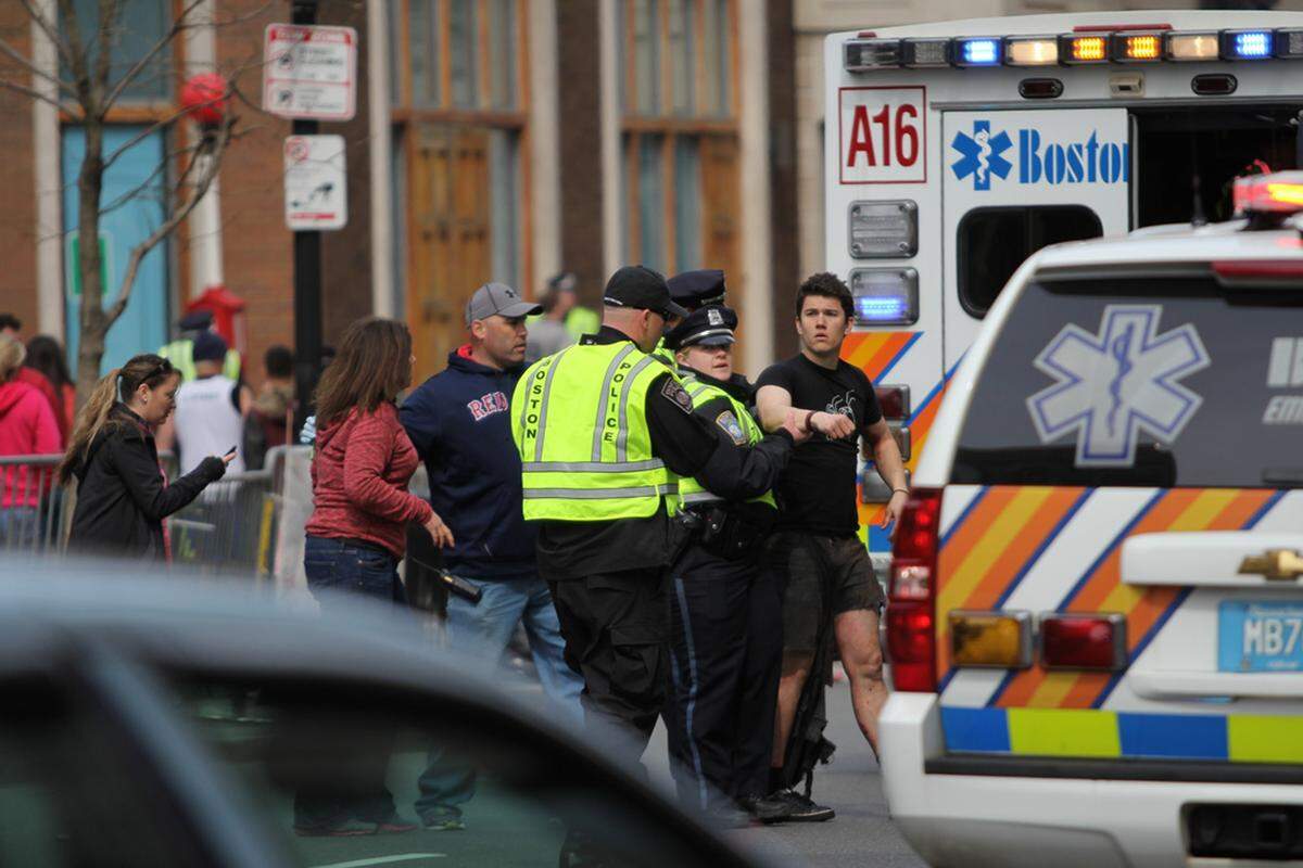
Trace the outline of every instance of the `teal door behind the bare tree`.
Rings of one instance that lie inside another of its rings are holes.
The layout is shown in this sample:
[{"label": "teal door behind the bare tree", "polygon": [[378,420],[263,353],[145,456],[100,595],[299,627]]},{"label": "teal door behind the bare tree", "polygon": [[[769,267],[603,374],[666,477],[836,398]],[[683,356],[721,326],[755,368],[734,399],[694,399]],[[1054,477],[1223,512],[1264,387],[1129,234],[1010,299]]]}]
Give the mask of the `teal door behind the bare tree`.
[{"label": "teal door behind the bare tree", "polygon": [[[109,126],[104,131],[104,156],[117,151],[139,135],[141,126]],[[78,191],[77,176],[86,154],[86,134],[79,126],[65,126],[63,137],[64,176],[64,298],[68,307],[68,358],[77,363],[81,337],[81,277],[77,273]],[[100,197],[103,213],[99,243],[103,250],[104,307],[117,298],[126,259],[132,247],[149,237],[165,216],[164,178],[158,172],[167,159],[162,131],[133,144],[104,176]],[[167,342],[168,334],[168,255],[167,242],[145,256],[136,276],[126,310],[108,331],[100,371],[121,366],[138,353],[152,353]]]}]

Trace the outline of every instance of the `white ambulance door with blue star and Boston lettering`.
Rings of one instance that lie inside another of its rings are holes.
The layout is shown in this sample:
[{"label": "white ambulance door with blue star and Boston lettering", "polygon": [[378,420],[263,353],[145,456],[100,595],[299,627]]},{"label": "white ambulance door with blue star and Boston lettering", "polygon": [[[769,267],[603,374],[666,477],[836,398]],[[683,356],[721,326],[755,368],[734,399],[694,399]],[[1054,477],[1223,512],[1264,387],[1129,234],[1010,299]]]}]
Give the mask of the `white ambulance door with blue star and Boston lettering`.
[{"label": "white ambulance door with blue star and Boston lettering", "polygon": [[1130,228],[1124,108],[942,112],[949,372],[1031,254]]}]

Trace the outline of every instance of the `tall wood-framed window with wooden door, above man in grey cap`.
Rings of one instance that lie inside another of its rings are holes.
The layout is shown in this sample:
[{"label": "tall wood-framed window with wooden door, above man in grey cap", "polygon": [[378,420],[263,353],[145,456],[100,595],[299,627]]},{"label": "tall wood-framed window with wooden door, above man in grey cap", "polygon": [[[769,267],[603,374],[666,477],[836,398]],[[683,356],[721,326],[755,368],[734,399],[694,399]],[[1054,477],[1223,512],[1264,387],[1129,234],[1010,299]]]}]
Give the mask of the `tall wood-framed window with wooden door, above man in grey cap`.
[{"label": "tall wood-framed window with wooden door, above man in grey cap", "polygon": [[394,120],[404,211],[395,233],[417,376],[461,340],[490,280],[529,282],[523,143],[524,0],[394,0]]}]

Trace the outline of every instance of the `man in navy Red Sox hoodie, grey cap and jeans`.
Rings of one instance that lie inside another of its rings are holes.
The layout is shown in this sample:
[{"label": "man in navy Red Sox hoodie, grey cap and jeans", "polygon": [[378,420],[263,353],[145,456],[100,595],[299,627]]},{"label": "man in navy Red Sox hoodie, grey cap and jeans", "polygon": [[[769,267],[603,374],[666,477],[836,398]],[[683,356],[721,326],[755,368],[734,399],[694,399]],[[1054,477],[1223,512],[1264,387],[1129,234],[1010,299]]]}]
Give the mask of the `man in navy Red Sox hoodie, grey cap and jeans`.
[{"label": "man in navy Red Sox hoodie, grey cap and jeans", "polygon": [[[556,609],[538,578],[511,437],[508,402],[525,359],[525,318],[539,310],[503,284],[477,289],[465,311],[470,342],[408,396],[399,418],[430,474],[430,504],[456,540],[443,565],[483,593],[478,605],[448,599],[450,644],[500,657],[524,623],[543,690],[581,724],[584,679],[566,665]],[[427,829],[461,829],[459,806],[474,794],[474,770],[431,759],[417,812]]]}]

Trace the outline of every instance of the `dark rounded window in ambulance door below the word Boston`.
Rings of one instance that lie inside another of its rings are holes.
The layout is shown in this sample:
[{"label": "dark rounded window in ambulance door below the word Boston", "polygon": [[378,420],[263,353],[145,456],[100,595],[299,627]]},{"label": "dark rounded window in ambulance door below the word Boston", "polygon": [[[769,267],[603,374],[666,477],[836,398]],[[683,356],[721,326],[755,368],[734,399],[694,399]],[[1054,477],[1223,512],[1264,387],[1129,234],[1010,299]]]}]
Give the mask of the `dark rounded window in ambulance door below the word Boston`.
[{"label": "dark rounded window in ambulance door below the word Boston", "polygon": [[973,208],[959,221],[959,303],[981,319],[1033,252],[1102,234],[1098,215],[1085,206]]}]

